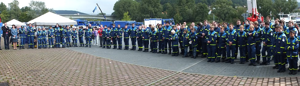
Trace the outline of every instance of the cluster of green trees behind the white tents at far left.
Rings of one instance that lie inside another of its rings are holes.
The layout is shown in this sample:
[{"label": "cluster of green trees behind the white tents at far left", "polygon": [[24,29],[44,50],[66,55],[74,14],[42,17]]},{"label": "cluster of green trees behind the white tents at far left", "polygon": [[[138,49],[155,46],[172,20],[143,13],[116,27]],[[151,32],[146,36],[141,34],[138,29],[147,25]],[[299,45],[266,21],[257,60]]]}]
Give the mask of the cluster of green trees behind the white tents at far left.
[{"label": "cluster of green trees behind the white tents at far left", "polygon": [[22,7],[20,9],[19,2],[13,0],[6,6],[3,2],[0,3],[0,16],[2,22],[8,22],[12,19],[16,19],[20,22],[28,22],[34,18],[37,18],[47,12],[52,12],[53,8],[47,8],[45,2],[30,1],[29,6]]}]

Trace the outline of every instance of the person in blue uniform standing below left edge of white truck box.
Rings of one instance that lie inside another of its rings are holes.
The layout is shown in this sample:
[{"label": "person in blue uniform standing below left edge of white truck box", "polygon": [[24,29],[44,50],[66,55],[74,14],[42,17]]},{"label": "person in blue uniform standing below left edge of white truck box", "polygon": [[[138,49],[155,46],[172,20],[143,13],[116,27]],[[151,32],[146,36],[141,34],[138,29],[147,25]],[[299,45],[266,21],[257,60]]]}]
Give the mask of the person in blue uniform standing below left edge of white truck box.
[{"label": "person in blue uniform standing below left edge of white truck box", "polygon": [[147,29],[146,26],[142,29],[141,37],[143,38],[143,44],[144,44],[144,51],[143,52],[149,52],[149,29]]}]

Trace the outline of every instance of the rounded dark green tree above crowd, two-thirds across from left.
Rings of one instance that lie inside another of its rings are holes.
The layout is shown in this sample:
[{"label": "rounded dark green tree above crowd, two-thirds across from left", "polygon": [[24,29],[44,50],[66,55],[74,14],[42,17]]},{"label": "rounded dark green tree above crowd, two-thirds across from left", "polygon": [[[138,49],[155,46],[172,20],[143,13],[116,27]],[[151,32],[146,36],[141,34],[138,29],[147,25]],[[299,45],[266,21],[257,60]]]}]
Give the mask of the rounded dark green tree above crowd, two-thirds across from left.
[{"label": "rounded dark green tree above crowd, two-thirds across from left", "polygon": [[193,15],[195,16],[196,22],[201,22],[207,19],[209,9],[206,4],[198,3],[195,8],[193,9]]}]

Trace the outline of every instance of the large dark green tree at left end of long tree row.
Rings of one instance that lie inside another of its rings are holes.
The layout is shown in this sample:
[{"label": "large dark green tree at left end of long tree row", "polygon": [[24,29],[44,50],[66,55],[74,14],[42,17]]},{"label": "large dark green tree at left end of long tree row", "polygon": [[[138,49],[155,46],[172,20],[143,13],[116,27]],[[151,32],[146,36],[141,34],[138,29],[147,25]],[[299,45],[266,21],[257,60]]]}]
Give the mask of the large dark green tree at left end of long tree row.
[{"label": "large dark green tree at left end of long tree row", "polygon": [[[132,17],[133,20],[141,20],[140,18],[140,3],[133,0],[119,0],[113,6],[112,13],[117,19],[121,19],[125,12]],[[144,20],[144,19],[142,19]]]}]

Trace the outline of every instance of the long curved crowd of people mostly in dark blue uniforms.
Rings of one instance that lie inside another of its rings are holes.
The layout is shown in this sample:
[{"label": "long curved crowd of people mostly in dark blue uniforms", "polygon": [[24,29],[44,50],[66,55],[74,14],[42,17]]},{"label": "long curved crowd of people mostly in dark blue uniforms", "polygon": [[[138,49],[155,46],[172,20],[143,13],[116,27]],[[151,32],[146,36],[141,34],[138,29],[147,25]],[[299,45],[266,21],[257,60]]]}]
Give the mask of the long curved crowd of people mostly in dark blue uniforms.
[{"label": "long curved crowd of people mostly in dark blue uniforms", "polygon": [[[210,24],[207,20],[204,20],[203,24],[198,23],[197,26],[195,26],[195,23],[186,25],[184,22],[183,25],[170,25],[169,22],[166,22],[164,25],[149,25],[149,28],[146,25],[137,28],[135,24],[132,24],[130,28],[127,25],[125,25],[125,28],[121,28],[120,25],[116,27],[113,24],[112,27],[101,25],[99,28],[89,25],[85,29],[79,27],[78,30],[71,29],[68,26],[56,25],[54,29],[50,27],[48,31],[45,28],[38,28],[37,42],[38,49],[47,48],[47,37],[48,48],[60,48],[60,45],[62,48],[65,48],[65,45],[72,47],[71,40],[73,41],[73,47],[78,47],[78,38],[79,47],[91,47],[91,39],[93,39],[93,45],[98,45],[99,41],[99,47],[107,49],[112,47],[112,49],[122,50],[123,40],[124,50],[129,50],[129,39],[131,39],[132,48],[130,50],[136,50],[138,46],[137,51],[168,53],[172,54],[171,56],[179,56],[180,48],[183,57],[195,59],[202,54],[201,58],[208,58],[207,62],[231,64],[234,64],[234,60],[237,59],[239,50],[239,64],[250,61],[248,65],[270,65],[271,60],[273,60],[275,66],[272,68],[278,69],[277,72],[285,72],[285,65],[289,64],[289,74],[297,74],[298,27],[293,26],[293,21],[289,21],[287,27],[284,20],[275,19],[275,24],[272,24],[270,19],[271,17],[267,16],[266,22],[245,20],[244,25],[241,25],[240,20],[237,20],[236,25],[227,22],[219,24],[217,21]],[[10,36],[14,49],[17,49],[15,46],[17,45],[18,34],[20,34],[21,39],[20,49],[24,49],[25,34],[29,38],[29,48],[33,48],[35,29],[31,24],[27,29],[22,26],[17,31],[15,25],[12,29],[8,29],[5,23],[2,31],[5,49],[9,49]],[[83,37],[86,41],[85,44]],[[53,45],[53,43],[56,45]],[[262,62],[260,62],[261,57]],[[298,69],[299,71],[300,69]]]}]

